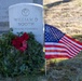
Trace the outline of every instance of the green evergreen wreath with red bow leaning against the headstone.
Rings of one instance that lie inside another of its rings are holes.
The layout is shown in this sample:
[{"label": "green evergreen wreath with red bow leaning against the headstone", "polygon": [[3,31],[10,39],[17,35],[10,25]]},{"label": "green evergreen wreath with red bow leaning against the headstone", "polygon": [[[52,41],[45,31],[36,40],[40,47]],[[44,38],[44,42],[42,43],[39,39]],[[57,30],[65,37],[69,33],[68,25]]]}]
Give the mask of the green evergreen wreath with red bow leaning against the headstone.
[{"label": "green evergreen wreath with red bow leaning against the headstone", "polygon": [[29,32],[14,35],[9,31],[0,37],[0,75],[16,77],[38,73],[44,65],[44,53],[35,36]]}]

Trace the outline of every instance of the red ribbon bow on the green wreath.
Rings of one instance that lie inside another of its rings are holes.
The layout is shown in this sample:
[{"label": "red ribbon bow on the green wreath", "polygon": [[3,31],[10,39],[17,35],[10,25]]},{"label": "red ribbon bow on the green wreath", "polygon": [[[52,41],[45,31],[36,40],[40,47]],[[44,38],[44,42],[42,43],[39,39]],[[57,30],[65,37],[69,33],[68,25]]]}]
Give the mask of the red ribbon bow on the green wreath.
[{"label": "red ribbon bow on the green wreath", "polygon": [[27,49],[27,40],[29,36],[25,32],[22,37],[16,37],[12,40],[12,44],[19,51],[24,52]]}]

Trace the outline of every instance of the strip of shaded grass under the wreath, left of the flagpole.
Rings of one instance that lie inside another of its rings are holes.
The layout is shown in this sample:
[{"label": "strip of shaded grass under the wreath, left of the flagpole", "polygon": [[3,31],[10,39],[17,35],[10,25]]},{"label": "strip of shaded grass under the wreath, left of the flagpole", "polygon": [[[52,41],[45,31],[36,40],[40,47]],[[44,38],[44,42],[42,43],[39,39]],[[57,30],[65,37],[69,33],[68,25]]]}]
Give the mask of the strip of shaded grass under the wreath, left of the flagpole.
[{"label": "strip of shaded grass under the wreath, left of the flagpole", "polygon": [[27,76],[27,77],[16,77],[16,78],[3,78],[0,81],[46,81],[44,75],[37,75],[37,76]]}]

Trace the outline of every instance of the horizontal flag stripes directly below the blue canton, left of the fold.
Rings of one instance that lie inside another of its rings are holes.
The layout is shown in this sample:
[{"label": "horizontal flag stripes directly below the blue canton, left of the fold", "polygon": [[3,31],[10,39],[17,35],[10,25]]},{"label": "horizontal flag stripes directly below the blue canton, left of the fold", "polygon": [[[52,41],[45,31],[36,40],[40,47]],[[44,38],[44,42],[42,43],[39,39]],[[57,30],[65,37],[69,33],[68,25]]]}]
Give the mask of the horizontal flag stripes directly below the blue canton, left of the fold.
[{"label": "horizontal flag stripes directly below the blue canton, left of the fold", "polygon": [[45,42],[45,58],[69,58],[63,43]]}]

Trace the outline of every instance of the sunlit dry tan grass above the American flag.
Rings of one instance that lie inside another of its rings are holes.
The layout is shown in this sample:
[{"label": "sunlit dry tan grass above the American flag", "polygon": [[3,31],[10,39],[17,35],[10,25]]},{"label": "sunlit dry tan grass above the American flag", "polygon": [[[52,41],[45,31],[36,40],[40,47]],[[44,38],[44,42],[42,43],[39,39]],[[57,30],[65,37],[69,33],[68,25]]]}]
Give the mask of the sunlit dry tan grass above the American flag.
[{"label": "sunlit dry tan grass above the American flag", "polygon": [[69,36],[82,35],[82,0],[51,0],[44,8],[45,23]]}]

